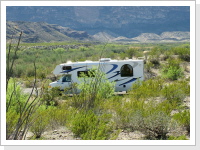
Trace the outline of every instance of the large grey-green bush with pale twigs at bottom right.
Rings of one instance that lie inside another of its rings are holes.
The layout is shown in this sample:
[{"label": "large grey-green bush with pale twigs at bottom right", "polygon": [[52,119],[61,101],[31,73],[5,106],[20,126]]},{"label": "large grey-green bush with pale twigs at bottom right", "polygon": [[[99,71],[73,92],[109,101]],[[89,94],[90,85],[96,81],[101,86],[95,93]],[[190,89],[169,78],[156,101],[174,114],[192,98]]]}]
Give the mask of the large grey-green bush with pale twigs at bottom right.
[{"label": "large grey-green bush with pale twigs at bottom right", "polygon": [[138,130],[146,135],[147,139],[166,139],[170,127],[170,105],[154,100],[138,102],[132,107],[129,115],[129,124],[132,131]]}]

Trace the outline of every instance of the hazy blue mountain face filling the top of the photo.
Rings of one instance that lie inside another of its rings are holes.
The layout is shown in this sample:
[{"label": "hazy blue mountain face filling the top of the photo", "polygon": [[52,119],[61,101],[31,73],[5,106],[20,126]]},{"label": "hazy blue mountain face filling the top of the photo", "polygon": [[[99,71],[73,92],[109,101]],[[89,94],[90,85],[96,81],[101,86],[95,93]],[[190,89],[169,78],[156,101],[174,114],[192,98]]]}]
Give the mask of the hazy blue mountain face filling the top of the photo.
[{"label": "hazy blue mountain face filling the top of the photo", "polygon": [[7,21],[46,22],[115,38],[190,32],[189,6],[9,6]]}]

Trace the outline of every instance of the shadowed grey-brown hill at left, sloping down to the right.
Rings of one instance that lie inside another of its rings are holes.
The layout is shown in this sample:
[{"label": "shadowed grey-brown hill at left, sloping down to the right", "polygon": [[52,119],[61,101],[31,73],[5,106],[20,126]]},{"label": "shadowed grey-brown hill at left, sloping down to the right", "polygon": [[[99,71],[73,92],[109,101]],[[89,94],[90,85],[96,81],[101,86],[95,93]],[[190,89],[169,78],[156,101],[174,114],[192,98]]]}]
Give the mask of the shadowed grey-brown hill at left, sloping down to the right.
[{"label": "shadowed grey-brown hill at left, sloping down to the right", "polygon": [[55,42],[70,40],[92,40],[93,37],[85,31],[76,31],[68,27],[62,27],[45,22],[24,22],[24,21],[7,21],[6,22],[6,39],[18,39],[19,33],[23,31],[22,42]]}]

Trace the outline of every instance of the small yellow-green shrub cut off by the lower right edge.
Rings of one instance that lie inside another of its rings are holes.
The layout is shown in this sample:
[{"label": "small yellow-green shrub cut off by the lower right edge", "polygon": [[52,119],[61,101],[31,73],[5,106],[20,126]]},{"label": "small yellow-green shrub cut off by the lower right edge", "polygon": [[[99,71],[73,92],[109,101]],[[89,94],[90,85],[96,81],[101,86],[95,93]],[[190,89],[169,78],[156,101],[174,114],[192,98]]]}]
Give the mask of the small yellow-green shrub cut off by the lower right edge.
[{"label": "small yellow-green shrub cut off by the lower right edge", "polygon": [[190,110],[184,110],[183,112],[174,114],[173,119],[177,120],[181,126],[185,127],[188,134],[190,134]]}]

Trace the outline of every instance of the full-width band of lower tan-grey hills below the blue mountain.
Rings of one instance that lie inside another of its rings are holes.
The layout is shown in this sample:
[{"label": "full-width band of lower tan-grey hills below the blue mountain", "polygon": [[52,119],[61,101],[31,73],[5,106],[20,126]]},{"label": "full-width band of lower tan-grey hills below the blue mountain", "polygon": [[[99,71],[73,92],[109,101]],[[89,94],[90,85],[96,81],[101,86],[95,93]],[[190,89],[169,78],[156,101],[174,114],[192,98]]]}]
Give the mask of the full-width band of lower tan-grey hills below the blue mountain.
[{"label": "full-width band of lower tan-grey hills below the blue mountain", "polygon": [[19,33],[23,31],[22,42],[58,42],[58,41],[100,41],[100,42],[189,42],[190,33],[183,31],[163,32],[160,35],[155,33],[142,33],[134,38],[117,36],[112,33],[98,32],[95,35],[89,35],[85,31],[77,31],[68,27],[62,27],[56,24],[45,22],[24,22],[7,21],[6,38],[7,40],[16,40]]}]

